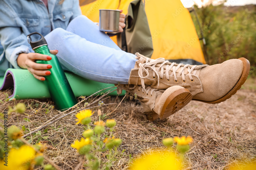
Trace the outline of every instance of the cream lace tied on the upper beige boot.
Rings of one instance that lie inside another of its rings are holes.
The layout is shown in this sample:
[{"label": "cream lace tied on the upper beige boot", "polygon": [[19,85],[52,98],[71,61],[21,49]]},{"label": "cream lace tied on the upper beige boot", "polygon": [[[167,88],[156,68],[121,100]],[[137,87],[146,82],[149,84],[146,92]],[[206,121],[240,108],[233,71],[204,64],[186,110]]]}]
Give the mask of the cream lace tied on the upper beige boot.
[{"label": "cream lace tied on the upper beige boot", "polygon": [[[157,77],[157,82],[158,82],[158,86],[159,86],[159,80],[163,79],[164,76],[164,65],[166,63],[168,63],[169,61],[166,61],[164,58],[158,58],[158,59],[151,59],[150,61],[148,61],[150,58],[146,59],[145,63],[139,63],[139,70],[138,70],[138,75],[141,78],[141,84],[142,87],[145,89],[145,84],[144,84],[144,79],[146,79],[149,76],[148,70],[151,69],[153,71],[153,79],[155,79]],[[142,59],[141,59],[142,60]],[[140,62],[140,60],[138,60],[138,62]],[[161,63],[163,62],[163,63]],[[159,66],[159,68],[156,70],[156,64],[161,63],[161,65]],[[169,81],[169,71],[170,69],[173,68],[173,72],[170,74],[170,76],[174,76],[174,80],[178,81],[177,77],[176,77],[176,71],[181,68],[181,70],[178,72],[177,76],[182,75],[182,80],[185,81],[185,73],[184,73],[184,69],[188,68],[188,75],[189,79],[191,81],[193,81],[193,77],[191,76],[191,72],[195,69],[195,67],[197,66],[192,66],[191,68],[188,67],[189,64],[186,64],[184,66],[182,66],[183,64],[180,63],[178,64],[178,66],[175,66],[176,63],[173,62],[172,64],[166,64],[166,69],[165,69],[165,74],[166,74],[166,80]],[[159,71],[161,70],[160,76],[159,76]],[[143,76],[143,72],[145,71],[146,76]]]}]

